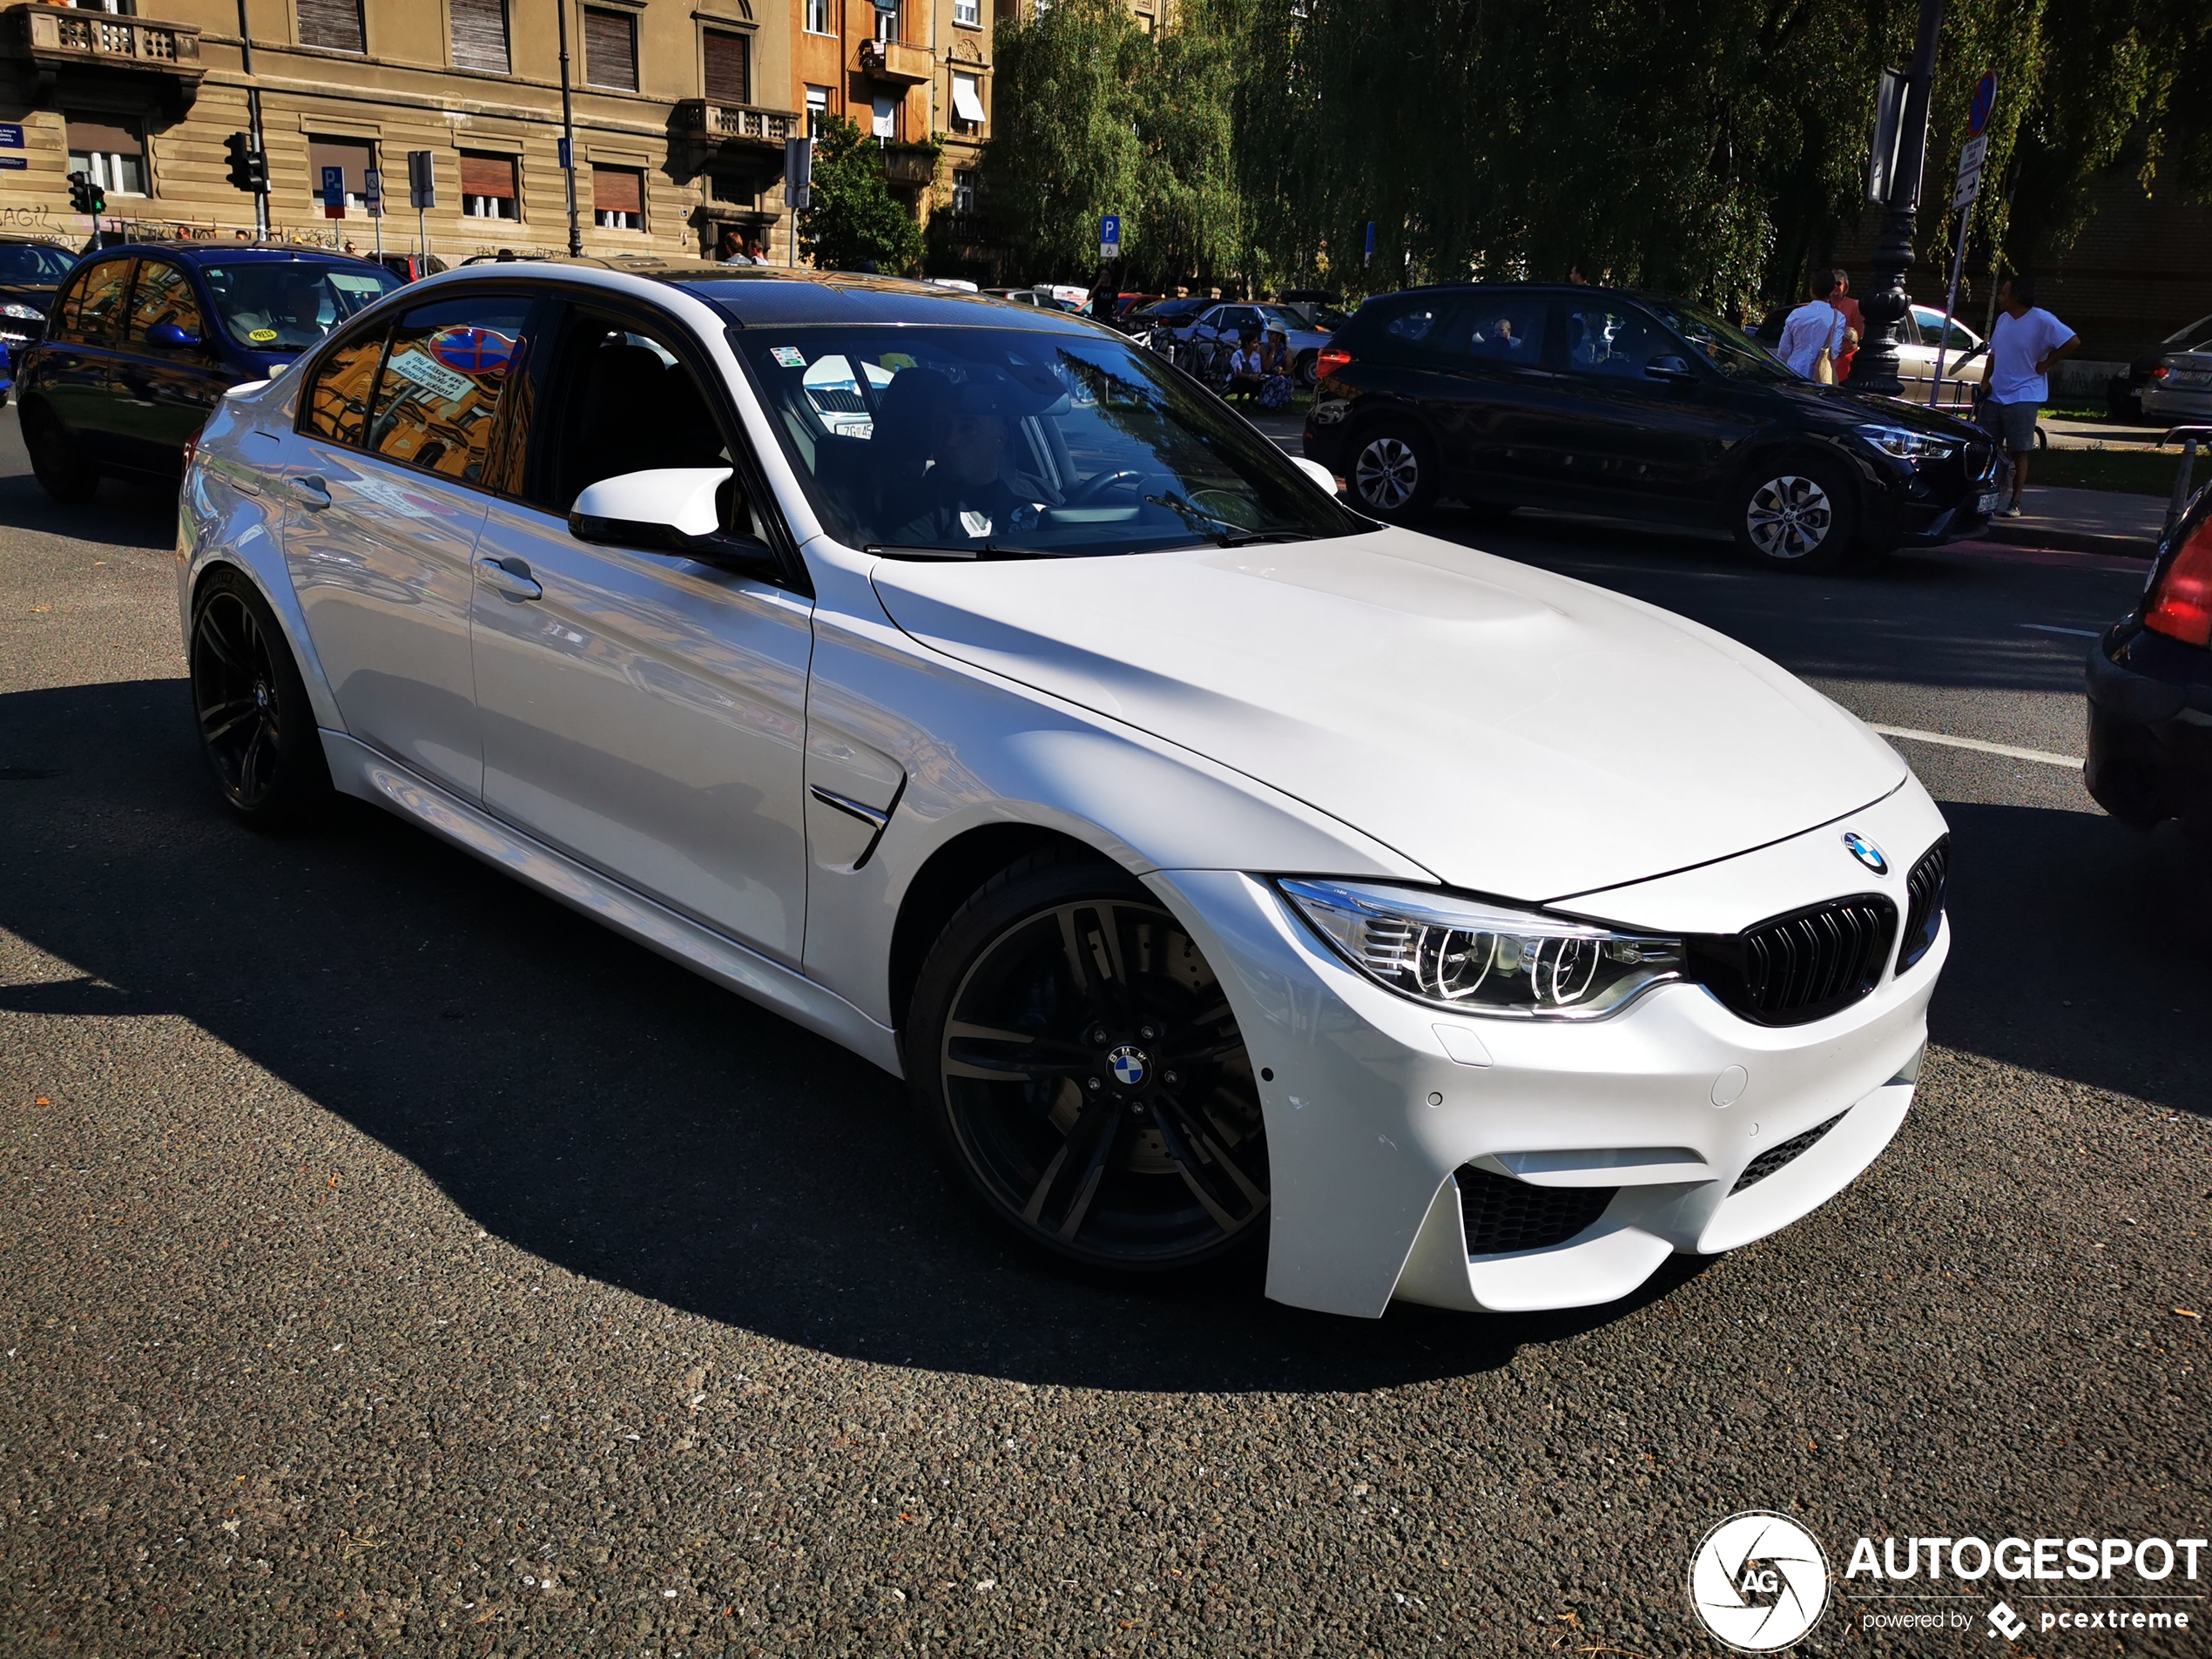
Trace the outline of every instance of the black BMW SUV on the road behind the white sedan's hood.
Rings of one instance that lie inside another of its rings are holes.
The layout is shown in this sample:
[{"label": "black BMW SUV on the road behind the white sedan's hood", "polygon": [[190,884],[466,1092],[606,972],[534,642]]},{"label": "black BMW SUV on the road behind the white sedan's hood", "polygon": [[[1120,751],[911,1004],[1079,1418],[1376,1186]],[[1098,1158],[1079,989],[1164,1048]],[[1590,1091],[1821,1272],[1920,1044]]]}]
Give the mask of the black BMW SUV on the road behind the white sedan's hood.
[{"label": "black BMW SUV on the road behind the white sedan's hood", "polygon": [[1305,453],[1396,522],[1440,495],[1721,529],[1761,562],[1973,535],[2006,462],[1978,427],[1818,385],[1712,312],[1604,288],[1420,288],[1321,354]]}]

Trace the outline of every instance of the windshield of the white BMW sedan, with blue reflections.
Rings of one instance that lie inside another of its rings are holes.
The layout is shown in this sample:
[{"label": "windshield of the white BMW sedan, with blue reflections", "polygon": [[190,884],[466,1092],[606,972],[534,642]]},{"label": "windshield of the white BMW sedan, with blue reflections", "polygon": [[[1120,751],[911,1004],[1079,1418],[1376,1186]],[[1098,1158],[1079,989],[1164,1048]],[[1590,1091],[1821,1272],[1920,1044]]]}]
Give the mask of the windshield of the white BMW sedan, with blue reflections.
[{"label": "windshield of the white BMW sedan, with blue reflections", "polygon": [[830,535],[905,557],[1071,557],[1365,524],[1150,352],[1088,330],[745,330]]}]

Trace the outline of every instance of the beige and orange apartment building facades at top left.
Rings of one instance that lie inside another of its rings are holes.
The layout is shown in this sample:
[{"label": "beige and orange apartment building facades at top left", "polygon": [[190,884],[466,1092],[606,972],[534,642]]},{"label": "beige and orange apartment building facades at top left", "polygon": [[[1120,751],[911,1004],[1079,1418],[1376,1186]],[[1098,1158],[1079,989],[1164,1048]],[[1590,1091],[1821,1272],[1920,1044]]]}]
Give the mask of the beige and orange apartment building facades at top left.
[{"label": "beige and orange apartment building facades at top left", "polygon": [[[254,199],[226,179],[223,139],[248,128],[252,86],[274,237],[367,252],[380,232],[385,248],[414,248],[407,153],[429,150],[438,201],[422,219],[431,252],[447,261],[500,248],[562,252],[568,179],[560,164],[555,7],[566,7],[584,252],[714,257],[745,241],[783,263],[792,252],[783,144],[807,131],[805,75],[825,73],[821,84],[836,91],[841,106],[849,106],[854,88],[869,88],[872,124],[880,108],[874,88],[898,86],[885,75],[911,75],[891,111],[902,144],[927,148],[927,124],[940,108],[940,75],[916,73],[907,51],[889,53],[887,71],[865,69],[858,55],[838,60],[847,75],[816,69],[818,49],[799,9],[818,2],[0,7],[0,228],[82,243],[91,223],[69,206],[69,175],[82,170],[106,190],[111,221],[190,237],[250,232]],[[951,22],[962,4],[975,0],[942,0],[947,31],[964,29]],[[867,0],[858,9],[872,11]],[[956,53],[960,62],[987,62],[989,31],[975,33],[982,40]],[[880,40],[909,46],[902,35]],[[947,49],[956,40],[967,33],[951,35]],[[945,80],[949,117],[953,82]],[[9,128],[20,128],[20,146],[7,144]],[[887,153],[887,168],[896,164],[898,155]],[[343,219],[325,212],[330,168],[343,179]],[[380,223],[367,217],[369,168],[383,175]]]}]

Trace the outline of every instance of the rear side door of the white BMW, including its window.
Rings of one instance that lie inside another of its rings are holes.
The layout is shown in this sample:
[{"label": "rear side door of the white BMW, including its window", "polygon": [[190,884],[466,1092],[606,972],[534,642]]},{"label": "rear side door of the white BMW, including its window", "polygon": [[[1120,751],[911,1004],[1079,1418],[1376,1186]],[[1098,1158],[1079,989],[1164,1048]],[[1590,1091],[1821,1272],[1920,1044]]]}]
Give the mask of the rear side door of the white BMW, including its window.
[{"label": "rear side door of the white BMW, including its window", "polygon": [[476,801],[476,535],[531,303],[440,299],[321,358],[288,456],[285,562],[347,730]]}]

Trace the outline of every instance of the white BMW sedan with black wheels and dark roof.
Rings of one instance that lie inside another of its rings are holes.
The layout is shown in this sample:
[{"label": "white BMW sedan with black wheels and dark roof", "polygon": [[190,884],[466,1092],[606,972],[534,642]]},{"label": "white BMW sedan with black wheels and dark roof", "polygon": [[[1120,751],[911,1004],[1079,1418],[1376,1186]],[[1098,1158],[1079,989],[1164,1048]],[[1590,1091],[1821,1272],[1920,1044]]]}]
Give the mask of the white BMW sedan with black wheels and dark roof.
[{"label": "white BMW sedan with black wheels and dark roof", "polygon": [[1095,1270],[1613,1301],[1882,1152],[1949,951],[1818,692],[918,283],[405,288],[208,420],[177,599],[239,818],[374,801],[845,1044]]}]

